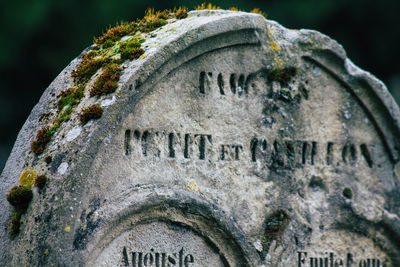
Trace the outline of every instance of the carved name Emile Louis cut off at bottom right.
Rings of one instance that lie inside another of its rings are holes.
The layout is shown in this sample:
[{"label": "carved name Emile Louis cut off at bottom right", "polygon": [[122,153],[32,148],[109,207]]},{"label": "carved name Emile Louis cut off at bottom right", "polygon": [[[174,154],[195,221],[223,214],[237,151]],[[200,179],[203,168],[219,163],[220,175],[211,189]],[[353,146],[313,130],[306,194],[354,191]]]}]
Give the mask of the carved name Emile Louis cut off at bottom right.
[{"label": "carved name Emile Louis cut off at bottom right", "polygon": [[298,267],[386,267],[389,261],[379,257],[357,257],[352,253],[345,256],[325,252],[316,256],[306,251],[297,252]]}]

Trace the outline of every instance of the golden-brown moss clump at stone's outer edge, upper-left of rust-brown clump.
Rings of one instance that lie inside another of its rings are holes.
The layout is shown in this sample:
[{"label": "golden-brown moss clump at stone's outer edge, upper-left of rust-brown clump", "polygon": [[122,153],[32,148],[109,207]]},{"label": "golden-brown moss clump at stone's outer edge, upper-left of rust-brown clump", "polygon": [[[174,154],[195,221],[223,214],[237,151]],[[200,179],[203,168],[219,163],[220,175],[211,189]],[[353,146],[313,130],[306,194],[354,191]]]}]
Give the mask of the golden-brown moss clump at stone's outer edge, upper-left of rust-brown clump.
[{"label": "golden-brown moss clump at stone's outer edge, upper-left of rust-brown clump", "polygon": [[93,53],[82,57],[81,64],[71,74],[76,85],[85,85],[93,74],[96,73],[109,59],[103,57],[92,57]]}]

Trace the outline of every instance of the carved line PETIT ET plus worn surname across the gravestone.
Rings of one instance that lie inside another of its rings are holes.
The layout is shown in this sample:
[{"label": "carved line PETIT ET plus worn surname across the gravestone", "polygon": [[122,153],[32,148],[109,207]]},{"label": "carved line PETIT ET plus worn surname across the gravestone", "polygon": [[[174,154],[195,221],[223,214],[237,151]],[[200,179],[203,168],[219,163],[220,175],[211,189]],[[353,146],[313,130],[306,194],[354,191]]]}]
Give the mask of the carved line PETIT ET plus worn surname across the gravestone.
[{"label": "carved line PETIT ET plus worn surname across the gravestone", "polygon": [[229,143],[208,133],[126,130],[124,154],[208,161],[261,163],[269,168],[310,166],[355,166],[372,168],[371,145],[304,140],[270,140],[253,137],[250,141]]}]

